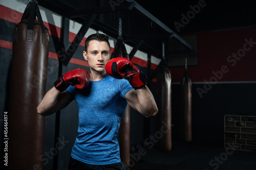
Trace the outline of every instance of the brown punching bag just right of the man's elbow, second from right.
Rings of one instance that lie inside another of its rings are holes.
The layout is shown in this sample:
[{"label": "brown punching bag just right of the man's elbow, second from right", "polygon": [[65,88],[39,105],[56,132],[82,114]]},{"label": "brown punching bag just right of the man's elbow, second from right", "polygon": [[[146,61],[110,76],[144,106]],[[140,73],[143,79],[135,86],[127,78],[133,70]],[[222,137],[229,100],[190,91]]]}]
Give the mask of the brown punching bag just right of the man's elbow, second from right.
[{"label": "brown punching bag just right of the man's elbow, second from right", "polygon": [[156,147],[161,152],[169,152],[172,149],[172,78],[165,61],[159,65],[157,71],[157,107],[155,133],[158,142]]}]

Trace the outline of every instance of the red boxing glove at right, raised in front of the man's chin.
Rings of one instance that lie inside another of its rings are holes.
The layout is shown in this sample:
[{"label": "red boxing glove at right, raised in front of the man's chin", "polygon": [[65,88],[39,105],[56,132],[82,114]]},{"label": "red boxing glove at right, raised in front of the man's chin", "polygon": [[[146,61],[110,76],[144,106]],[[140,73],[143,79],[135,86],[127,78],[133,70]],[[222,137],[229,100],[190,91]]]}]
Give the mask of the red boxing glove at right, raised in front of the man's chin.
[{"label": "red boxing glove at right, raised in front of the man's chin", "polygon": [[143,87],[147,78],[130,60],[116,57],[106,63],[106,74],[116,79],[127,79],[134,89]]}]

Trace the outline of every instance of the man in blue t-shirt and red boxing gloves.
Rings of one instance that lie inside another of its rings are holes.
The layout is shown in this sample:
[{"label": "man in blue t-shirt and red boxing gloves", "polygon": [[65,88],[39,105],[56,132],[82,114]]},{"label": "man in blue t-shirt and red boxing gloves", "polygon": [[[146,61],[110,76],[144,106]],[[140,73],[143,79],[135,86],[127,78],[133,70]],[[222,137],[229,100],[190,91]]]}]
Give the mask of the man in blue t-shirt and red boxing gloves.
[{"label": "man in blue t-shirt and red boxing gloves", "polygon": [[142,72],[125,58],[110,60],[108,38],[99,33],[90,35],[83,57],[91,74],[80,68],[68,71],[37,107],[37,112],[46,116],[76,100],[79,126],[70,170],[124,169],[119,156],[118,130],[127,103],[146,117],[158,112]]}]

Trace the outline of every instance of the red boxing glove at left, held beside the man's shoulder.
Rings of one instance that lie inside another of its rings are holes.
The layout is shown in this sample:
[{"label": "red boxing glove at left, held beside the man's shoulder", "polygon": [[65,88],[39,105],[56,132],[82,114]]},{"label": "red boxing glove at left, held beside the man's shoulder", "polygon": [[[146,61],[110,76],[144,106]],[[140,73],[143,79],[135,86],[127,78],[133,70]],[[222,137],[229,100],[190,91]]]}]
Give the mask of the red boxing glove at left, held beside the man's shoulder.
[{"label": "red boxing glove at left, held beside the man's shoulder", "polygon": [[88,85],[90,80],[90,73],[86,69],[77,68],[66,72],[63,76],[60,76],[54,82],[54,86],[59,91],[65,91],[70,85],[75,86],[75,88],[82,89]]}]

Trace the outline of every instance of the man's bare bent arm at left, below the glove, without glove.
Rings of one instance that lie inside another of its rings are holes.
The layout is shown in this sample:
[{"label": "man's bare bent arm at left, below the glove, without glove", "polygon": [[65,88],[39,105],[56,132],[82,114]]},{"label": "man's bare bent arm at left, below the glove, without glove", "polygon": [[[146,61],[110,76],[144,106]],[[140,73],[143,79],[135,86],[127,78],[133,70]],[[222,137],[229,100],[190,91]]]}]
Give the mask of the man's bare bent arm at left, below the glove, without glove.
[{"label": "man's bare bent arm at left, below the glove, without glove", "polygon": [[68,106],[72,100],[67,91],[61,92],[52,87],[37,106],[37,113],[42,116],[51,115]]}]

